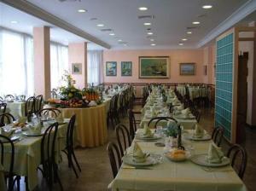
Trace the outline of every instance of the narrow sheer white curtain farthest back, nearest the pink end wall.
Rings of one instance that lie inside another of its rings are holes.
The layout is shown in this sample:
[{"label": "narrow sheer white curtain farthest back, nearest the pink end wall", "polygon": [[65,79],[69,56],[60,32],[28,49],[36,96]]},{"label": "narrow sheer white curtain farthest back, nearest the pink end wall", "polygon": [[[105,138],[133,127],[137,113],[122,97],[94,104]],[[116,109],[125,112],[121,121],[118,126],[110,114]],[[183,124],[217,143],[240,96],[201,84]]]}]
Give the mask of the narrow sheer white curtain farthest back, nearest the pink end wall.
[{"label": "narrow sheer white curtain farthest back, nearest the pink end wall", "polygon": [[102,50],[88,50],[87,52],[87,82],[88,84],[102,83]]}]

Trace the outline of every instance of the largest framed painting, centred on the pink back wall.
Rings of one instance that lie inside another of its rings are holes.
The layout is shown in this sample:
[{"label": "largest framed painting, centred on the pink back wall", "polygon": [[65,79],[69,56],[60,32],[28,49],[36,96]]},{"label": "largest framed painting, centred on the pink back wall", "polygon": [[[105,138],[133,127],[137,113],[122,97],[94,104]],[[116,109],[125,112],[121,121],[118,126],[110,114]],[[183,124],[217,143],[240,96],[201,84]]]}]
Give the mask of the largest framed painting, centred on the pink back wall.
[{"label": "largest framed painting, centred on the pink back wall", "polygon": [[139,78],[169,78],[169,56],[140,56]]}]

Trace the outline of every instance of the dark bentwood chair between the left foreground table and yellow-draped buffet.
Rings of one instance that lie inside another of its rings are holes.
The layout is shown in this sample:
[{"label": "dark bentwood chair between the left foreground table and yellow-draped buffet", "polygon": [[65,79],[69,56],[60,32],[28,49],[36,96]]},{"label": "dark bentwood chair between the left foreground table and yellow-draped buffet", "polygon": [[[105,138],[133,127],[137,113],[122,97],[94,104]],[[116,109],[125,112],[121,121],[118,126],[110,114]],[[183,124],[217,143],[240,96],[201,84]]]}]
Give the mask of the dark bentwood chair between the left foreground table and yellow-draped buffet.
[{"label": "dark bentwood chair between the left foreground table and yellow-draped buffet", "polygon": [[79,171],[81,171],[78,159],[76,158],[76,155],[74,153],[73,149],[73,132],[74,132],[74,124],[76,121],[76,115],[73,115],[72,118],[69,120],[68,126],[67,126],[67,142],[66,142],[66,148],[62,150],[63,153],[67,154],[67,161],[68,161],[68,167],[72,167],[73,171],[78,178],[79,175],[75,169],[75,166],[73,164],[73,159],[79,168]]}]

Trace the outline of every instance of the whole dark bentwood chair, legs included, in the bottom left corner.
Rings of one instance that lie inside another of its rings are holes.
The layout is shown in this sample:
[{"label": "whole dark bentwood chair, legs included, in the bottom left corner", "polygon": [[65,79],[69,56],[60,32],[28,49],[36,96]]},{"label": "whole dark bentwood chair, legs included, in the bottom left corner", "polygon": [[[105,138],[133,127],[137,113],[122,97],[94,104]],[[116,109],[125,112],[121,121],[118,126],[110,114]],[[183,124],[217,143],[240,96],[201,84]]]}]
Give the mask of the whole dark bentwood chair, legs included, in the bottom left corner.
[{"label": "whole dark bentwood chair, legs included, in the bottom left corner", "polygon": [[[7,148],[8,146],[8,148]],[[8,151],[5,152],[5,149],[7,148]],[[20,179],[18,180],[18,177],[15,177],[14,174],[14,163],[15,163],[15,146],[14,142],[12,142],[9,137],[0,135],[0,164],[3,166],[3,164],[7,164],[6,160],[8,160],[8,168],[5,168],[6,171],[4,172],[4,177],[7,180],[7,190],[13,191],[15,181],[17,181],[17,187],[18,190],[20,190]],[[9,153],[9,154],[6,154]],[[5,166],[6,167],[6,166]],[[20,177],[19,177],[20,178]],[[19,182],[18,182],[19,181]]]}]

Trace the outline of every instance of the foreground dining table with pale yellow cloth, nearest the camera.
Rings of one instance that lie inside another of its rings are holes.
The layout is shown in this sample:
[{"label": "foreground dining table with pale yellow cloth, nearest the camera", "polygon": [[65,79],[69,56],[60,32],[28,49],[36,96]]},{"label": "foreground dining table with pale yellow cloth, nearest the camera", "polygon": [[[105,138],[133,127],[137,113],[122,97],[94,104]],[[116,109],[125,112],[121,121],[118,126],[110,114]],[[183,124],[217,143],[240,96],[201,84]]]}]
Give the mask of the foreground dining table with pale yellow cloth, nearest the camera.
[{"label": "foreground dining table with pale yellow cloth, nearest the camera", "polygon": [[[137,135],[141,134],[142,129],[138,129]],[[157,144],[165,142],[164,137],[148,141],[136,136],[108,188],[113,191],[246,191],[245,184],[231,167],[230,159],[225,158],[225,162],[219,165],[209,165],[207,159],[201,161],[197,158],[207,156],[212,140],[195,141],[190,139],[191,135],[193,130],[183,131],[182,145],[186,157],[182,161],[170,159],[167,154],[169,150]],[[148,158],[144,163],[132,159],[135,142],[147,153]],[[129,158],[131,160],[127,160]]]}]

